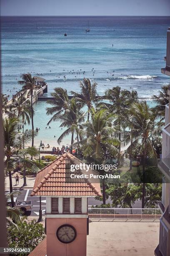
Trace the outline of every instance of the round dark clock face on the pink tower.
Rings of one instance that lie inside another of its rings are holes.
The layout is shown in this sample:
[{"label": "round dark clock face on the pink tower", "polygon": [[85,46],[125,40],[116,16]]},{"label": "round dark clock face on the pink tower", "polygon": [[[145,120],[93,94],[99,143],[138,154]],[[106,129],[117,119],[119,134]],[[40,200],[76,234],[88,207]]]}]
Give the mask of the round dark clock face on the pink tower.
[{"label": "round dark clock face on the pink tower", "polygon": [[76,230],[73,226],[65,224],[57,229],[57,238],[62,243],[71,243],[76,238]]}]

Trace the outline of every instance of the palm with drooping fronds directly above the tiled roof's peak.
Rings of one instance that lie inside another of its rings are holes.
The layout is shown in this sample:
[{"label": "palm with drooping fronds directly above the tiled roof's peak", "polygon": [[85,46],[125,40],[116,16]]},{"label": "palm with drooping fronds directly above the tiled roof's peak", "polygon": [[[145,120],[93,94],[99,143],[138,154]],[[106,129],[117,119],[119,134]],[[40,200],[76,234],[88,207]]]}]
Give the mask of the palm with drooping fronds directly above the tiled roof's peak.
[{"label": "palm with drooping fronds directly above the tiled roof's peak", "polygon": [[[68,136],[70,133],[71,137],[71,150],[73,146],[74,133],[77,135],[77,142],[79,141],[79,130],[82,129],[82,123],[85,122],[85,113],[81,111],[82,105],[72,98],[70,100],[68,109],[65,110],[64,114],[60,114],[58,117],[61,120],[60,127],[67,127],[67,129],[60,135],[57,139],[57,142],[60,144],[65,136]],[[80,135],[81,138],[81,135]]]}]

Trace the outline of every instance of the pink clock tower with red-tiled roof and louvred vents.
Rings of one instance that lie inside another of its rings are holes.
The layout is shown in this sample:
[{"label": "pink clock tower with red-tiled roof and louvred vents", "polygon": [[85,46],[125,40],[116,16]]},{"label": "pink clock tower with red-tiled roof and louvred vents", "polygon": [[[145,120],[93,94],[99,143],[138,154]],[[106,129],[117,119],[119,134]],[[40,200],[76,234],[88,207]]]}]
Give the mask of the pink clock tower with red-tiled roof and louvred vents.
[{"label": "pink clock tower with red-tiled roof and louvred vents", "polygon": [[46,196],[47,256],[86,256],[87,198],[102,195],[99,180],[88,178],[96,171],[76,168],[74,173],[88,174],[87,179],[71,178],[70,165],[81,163],[65,153],[37,173],[31,196]]}]

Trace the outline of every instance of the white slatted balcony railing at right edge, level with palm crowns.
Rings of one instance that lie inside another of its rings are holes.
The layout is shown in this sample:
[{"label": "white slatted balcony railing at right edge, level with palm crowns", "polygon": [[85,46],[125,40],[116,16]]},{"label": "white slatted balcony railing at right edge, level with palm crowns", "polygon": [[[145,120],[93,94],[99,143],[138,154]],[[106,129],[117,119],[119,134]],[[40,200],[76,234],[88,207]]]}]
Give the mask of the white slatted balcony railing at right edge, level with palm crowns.
[{"label": "white slatted balcony railing at right edge, level with palm crowns", "polygon": [[162,146],[162,161],[170,168],[170,123],[163,130],[163,146]]}]

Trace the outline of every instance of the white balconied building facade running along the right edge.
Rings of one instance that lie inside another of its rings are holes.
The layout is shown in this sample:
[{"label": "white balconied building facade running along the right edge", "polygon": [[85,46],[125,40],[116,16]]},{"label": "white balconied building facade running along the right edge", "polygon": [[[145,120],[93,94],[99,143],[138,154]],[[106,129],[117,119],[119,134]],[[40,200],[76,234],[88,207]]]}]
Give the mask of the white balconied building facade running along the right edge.
[{"label": "white balconied building facade running along the right edge", "polygon": [[[170,76],[170,27],[167,31],[167,54],[164,57],[166,67],[163,74]],[[170,256],[170,88],[169,104],[165,106],[165,126],[162,130],[162,159],[158,164],[163,173],[162,200],[159,204],[163,216],[160,219],[159,245],[155,249],[156,256]]]}]

